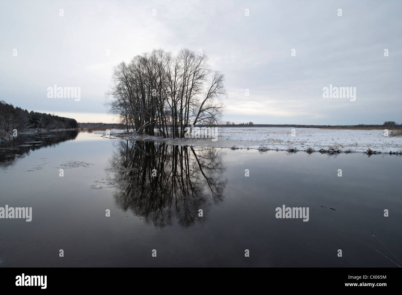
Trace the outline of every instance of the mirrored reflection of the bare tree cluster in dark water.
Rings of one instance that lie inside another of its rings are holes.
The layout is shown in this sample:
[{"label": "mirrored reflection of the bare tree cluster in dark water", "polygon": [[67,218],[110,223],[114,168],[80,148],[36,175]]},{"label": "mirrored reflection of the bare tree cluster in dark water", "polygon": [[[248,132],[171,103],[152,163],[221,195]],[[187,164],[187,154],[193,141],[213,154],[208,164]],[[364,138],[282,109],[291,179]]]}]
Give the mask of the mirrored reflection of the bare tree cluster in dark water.
[{"label": "mirrored reflection of the bare tree cluster in dark water", "polygon": [[[155,226],[202,222],[211,203],[222,201],[226,180],[222,150],[119,141],[111,158],[115,199],[123,210]],[[153,170],[155,169],[155,170]],[[152,176],[155,175],[155,176]],[[203,210],[203,217],[198,210]]]}]

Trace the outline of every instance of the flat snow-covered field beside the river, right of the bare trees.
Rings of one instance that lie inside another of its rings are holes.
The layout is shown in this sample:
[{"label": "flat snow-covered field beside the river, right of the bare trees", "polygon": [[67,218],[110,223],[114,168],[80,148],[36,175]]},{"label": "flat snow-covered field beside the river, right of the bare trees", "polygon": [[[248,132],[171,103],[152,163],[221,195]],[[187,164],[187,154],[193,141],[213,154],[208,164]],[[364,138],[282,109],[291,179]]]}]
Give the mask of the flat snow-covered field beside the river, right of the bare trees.
[{"label": "flat snow-covered field beside the river, right of the bare trees", "polygon": [[[292,129],[294,136],[292,136]],[[131,130],[132,131],[132,130]],[[94,131],[105,134],[105,131]],[[111,133],[124,130],[111,129]],[[172,144],[205,145],[214,147],[236,147],[240,149],[313,151],[334,149],[341,152],[365,152],[368,149],[380,153],[402,151],[402,136],[384,136],[384,130],[352,130],[322,128],[264,128],[233,127],[217,128],[217,141],[211,138],[158,138]],[[142,136],[142,138],[152,138]]]}]

